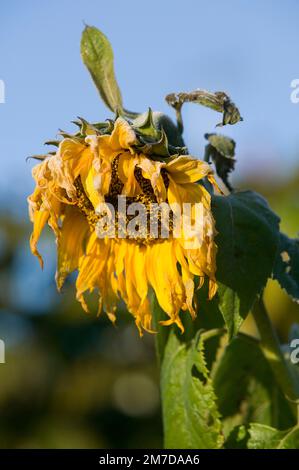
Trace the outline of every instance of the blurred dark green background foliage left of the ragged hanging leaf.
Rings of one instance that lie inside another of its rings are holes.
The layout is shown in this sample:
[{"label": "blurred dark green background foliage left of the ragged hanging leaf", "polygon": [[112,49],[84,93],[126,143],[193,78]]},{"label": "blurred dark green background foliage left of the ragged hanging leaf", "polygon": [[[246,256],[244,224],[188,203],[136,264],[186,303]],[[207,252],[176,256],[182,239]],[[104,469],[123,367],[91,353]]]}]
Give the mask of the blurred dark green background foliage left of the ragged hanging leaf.
[{"label": "blurred dark green background foliage left of the ragged hanging leaf", "polygon": [[58,294],[51,256],[41,272],[22,222],[1,218],[0,447],[160,447],[153,337],[123,311],[117,327],[86,315],[71,282]]}]

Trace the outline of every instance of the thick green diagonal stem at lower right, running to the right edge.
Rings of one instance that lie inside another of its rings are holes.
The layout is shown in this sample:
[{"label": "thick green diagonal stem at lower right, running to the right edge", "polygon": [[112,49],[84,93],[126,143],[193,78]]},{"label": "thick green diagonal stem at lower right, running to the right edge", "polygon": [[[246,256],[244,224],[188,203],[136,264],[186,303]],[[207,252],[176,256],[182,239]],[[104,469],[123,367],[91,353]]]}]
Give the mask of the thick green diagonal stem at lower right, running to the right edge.
[{"label": "thick green diagonal stem at lower right, running to the right edge", "polygon": [[[254,320],[261,336],[261,349],[269,361],[275,378],[286,398],[290,401],[299,397],[299,387],[288,367],[280,349],[277,334],[268,316],[262,297],[256,301],[252,310]],[[294,413],[297,413],[296,407]]]}]

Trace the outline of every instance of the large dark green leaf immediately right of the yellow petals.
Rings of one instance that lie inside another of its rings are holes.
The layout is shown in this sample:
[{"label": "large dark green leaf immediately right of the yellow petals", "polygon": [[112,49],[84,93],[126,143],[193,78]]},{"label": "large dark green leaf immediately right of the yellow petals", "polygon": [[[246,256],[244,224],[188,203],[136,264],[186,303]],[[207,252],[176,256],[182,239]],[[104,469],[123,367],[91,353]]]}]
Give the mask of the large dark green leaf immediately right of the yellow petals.
[{"label": "large dark green leaf immediately right of the yellow petals", "polygon": [[213,196],[218,235],[219,309],[230,338],[271,277],[279,243],[279,218],[257,193]]}]

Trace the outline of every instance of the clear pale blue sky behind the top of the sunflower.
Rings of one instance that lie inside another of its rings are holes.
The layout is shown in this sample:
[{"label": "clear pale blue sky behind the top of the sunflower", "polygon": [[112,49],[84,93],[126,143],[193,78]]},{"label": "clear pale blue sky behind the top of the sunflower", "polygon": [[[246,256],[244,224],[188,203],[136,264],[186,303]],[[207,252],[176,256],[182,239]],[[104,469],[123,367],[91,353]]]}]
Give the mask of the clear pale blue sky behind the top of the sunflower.
[{"label": "clear pale blue sky behind the top of the sunflower", "polygon": [[[236,177],[291,172],[299,155],[299,104],[290,83],[299,78],[299,2],[258,0],[11,0],[2,2],[0,80],[0,197],[24,200],[32,163],[58,128],[77,115],[111,117],[80,58],[83,21],[110,39],[125,106],[164,112],[172,91],[226,91],[244,122],[222,132],[237,141]],[[189,150],[203,155],[205,132],[220,115],[184,108]]]}]

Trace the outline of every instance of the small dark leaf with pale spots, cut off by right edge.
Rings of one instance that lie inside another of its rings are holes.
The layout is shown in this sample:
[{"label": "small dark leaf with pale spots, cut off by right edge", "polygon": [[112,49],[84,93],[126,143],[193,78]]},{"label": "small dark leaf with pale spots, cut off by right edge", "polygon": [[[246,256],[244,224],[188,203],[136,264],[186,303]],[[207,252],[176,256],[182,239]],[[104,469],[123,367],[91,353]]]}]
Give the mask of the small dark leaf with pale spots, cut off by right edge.
[{"label": "small dark leaf with pale spots, cut off by right edge", "polygon": [[287,291],[295,302],[299,302],[299,240],[280,234],[279,248],[273,278]]}]

